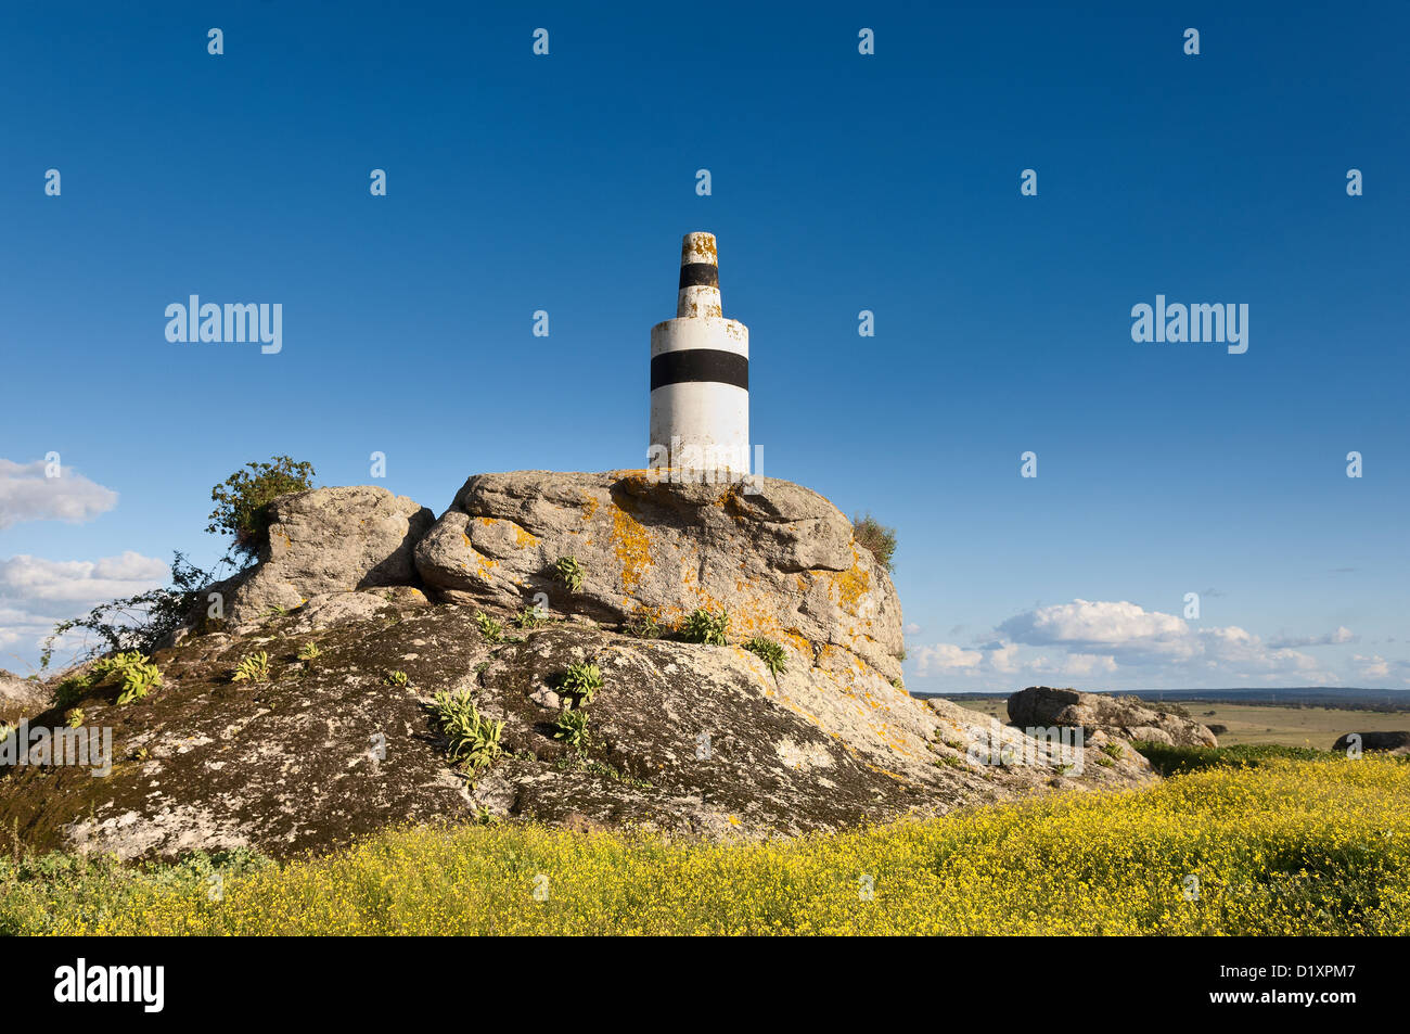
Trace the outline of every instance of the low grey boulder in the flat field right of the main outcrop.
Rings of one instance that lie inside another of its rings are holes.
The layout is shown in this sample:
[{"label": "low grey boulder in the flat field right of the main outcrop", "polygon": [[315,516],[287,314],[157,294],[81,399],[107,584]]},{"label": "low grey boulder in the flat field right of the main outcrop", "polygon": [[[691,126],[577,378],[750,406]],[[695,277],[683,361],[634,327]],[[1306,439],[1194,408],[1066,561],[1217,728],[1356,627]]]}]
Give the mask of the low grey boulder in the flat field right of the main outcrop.
[{"label": "low grey boulder in the flat field right of the main outcrop", "polygon": [[1144,701],[1048,686],[1029,686],[1012,694],[1008,718],[1019,728],[1081,728],[1089,738],[1100,732],[1169,746],[1218,746],[1218,739],[1204,725]]}]

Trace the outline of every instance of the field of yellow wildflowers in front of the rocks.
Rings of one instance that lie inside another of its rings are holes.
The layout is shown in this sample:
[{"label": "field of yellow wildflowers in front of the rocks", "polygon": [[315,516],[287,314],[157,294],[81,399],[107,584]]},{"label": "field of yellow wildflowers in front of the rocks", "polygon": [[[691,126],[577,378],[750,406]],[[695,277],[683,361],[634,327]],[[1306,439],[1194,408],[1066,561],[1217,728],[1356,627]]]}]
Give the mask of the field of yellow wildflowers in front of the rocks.
[{"label": "field of yellow wildflowers in front of the rocks", "polygon": [[1410,765],[1214,767],[767,844],[503,824],[228,872],[7,865],[10,932],[1403,935]]}]

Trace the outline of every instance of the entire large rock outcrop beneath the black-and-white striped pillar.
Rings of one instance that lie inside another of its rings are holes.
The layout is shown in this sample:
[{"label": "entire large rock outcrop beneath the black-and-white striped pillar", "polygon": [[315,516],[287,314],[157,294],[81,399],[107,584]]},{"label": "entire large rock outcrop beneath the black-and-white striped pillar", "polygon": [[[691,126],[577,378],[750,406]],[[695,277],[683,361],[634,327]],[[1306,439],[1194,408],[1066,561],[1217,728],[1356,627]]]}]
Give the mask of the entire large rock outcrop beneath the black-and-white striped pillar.
[{"label": "entire large rock outcrop beneath the black-and-white striped pillar", "polygon": [[[554,570],[570,556],[577,591]],[[292,855],[492,817],[759,838],[1155,779],[1134,750],[1055,752],[907,694],[890,577],[787,481],[482,474],[434,522],[379,488],[321,488],[279,499],[259,563],[212,591],[227,619],[157,650],[145,697],[65,701],[75,735],[111,731],[106,774],[0,777],[0,824],[25,845]],[[544,598],[547,618],[525,614]],[[673,635],[699,607],[729,612],[729,645]],[[781,647],[773,669],[753,636]],[[234,681],[257,655],[266,670]],[[574,701],[560,680],[588,660],[603,684]],[[503,755],[472,777],[447,756],[441,691],[503,722]],[[572,746],[570,711],[588,721]],[[63,722],[58,705],[31,719]]]}]

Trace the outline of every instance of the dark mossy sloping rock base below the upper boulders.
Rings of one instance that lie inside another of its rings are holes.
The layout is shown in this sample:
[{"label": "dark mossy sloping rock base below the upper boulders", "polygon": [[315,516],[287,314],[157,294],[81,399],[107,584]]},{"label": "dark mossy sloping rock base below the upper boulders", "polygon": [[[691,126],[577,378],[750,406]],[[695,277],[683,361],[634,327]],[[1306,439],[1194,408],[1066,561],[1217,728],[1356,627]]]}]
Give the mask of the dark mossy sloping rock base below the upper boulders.
[{"label": "dark mossy sloping rock base below the upper boulders", "polygon": [[[495,642],[474,609],[409,591],[329,597],[321,616],[312,607],[254,635],[158,650],[164,683],[142,700],[118,705],[96,688],[76,701],[85,725],[113,731],[111,772],[11,769],[0,824],[34,849],[124,858],[231,846],[288,856],[400,822],[486,817],[759,838],[1153,779],[1135,752],[1112,763],[1089,748],[1074,763],[990,717],[922,702],[870,669],[814,666],[791,646],[774,676],[739,646],[571,619]],[[309,642],[317,657],[298,659]],[[233,683],[255,652],[269,677]],[[603,686],[574,750],[554,732],[567,705],[558,677],[580,660],[599,666]],[[505,722],[505,755],[474,780],[447,759],[429,708],[441,690],[468,690]],[[55,708],[38,721],[63,718]]]}]

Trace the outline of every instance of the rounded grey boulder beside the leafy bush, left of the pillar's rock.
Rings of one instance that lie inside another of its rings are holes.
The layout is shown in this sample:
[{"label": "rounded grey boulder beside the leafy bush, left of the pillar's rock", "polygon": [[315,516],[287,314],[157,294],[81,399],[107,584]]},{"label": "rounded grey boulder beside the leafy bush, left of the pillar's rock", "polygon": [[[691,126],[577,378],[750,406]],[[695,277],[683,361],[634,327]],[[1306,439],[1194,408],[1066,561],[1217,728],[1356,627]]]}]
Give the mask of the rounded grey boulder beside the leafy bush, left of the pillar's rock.
[{"label": "rounded grey boulder beside the leafy bush, left of the pillar's rock", "polygon": [[227,592],[235,626],[330,592],[415,585],[413,550],[436,521],[426,506],[371,485],[285,495],[272,516],[258,566],[213,587]]}]

